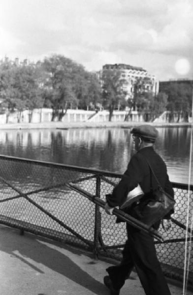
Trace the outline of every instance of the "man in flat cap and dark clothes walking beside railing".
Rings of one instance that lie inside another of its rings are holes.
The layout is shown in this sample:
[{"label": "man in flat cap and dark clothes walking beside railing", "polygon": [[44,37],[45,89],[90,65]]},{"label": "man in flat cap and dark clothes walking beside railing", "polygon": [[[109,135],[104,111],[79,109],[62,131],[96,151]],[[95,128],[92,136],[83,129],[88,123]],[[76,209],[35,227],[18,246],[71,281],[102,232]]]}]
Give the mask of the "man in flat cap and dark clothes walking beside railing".
[{"label": "man in flat cap and dark clothes walking beside railing", "polygon": [[[156,189],[158,184],[154,177],[152,177],[148,162],[161,187],[170,196],[174,197],[166,165],[153,148],[153,144],[158,137],[157,129],[151,125],[141,125],[133,128],[131,134],[137,152],[131,157],[126,172],[118,185],[113,189],[112,194],[106,197],[105,211],[107,214],[112,214],[114,207],[121,206],[128,192],[133,190],[138,184],[140,184],[144,192],[143,198],[151,197],[151,189]],[[137,203],[132,204],[125,212],[137,218],[134,214],[136,206]],[[171,226],[171,213],[173,213],[173,210],[163,217],[162,226],[165,230]],[[160,223],[161,220],[156,222],[153,225],[154,229],[157,230]],[[110,266],[106,269],[108,275],[104,277],[104,284],[110,290],[110,294],[120,294],[120,289],[129,277],[133,267],[135,267],[146,295],[170,295],[157,258],[153,237],[129,224],[127,224],[127,233],[128,240],[123,250],[123,259],[120,265]]]}]

